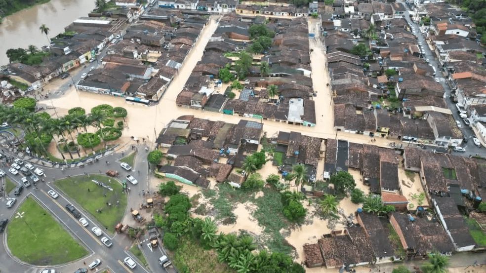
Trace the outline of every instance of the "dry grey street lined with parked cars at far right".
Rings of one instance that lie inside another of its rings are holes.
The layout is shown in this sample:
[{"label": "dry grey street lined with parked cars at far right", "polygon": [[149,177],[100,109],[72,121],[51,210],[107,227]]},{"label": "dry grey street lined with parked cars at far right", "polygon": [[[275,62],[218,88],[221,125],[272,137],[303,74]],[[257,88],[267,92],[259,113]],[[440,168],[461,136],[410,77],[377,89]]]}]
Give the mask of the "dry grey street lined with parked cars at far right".
[{"label": "dry grey street lined with parked cars at far right", "polygon": [[452,152],[452,154],[456,156],[474,156],[476,154],[479,155],[486,155],[486,149],[480,148],[474,145],[472,138],[474,137],[474,132],[471,129],[469,125],[466,125],[461,117],[459,117],[459,113],[457,112],[457,108],[455,106],[455,103],[452,102],[451,97],[450,97],[450,92],[451,89],[449,85],[447,84],[447,79],[444,77],[442,73],[442,66],[440,65],[439,61],[436,59],[434,52],[430,50],[430,47],[427,45],[427,41],[424,38],[424,35],[420,32],[419,25],[415,22],[413,22],[410,19],[408,11],[410,8],[405,4],[405,2],[402,2],[405,5],[406,12],[405,12],[405,20],[407,23],[412,26],[415,29],[415,32],[417,33],[417,40],[418,42],[421,42],[423,45],[423,55],[425,59],[429,59],[429,63],[436,68],[437,74],[436,78],[440,79],[440,83],[444,87],[446,98],[445,98],[445,103],[447,104],[447,107],[450,109],[452,112],[452,117],[454,117],[455,120],[460,122],[460,130],[462,134],[464,135],[464,138],[467,139],[467,143],[463,143],[461,146],[466,148],[466,153],[457,153],[457,152]]}]

